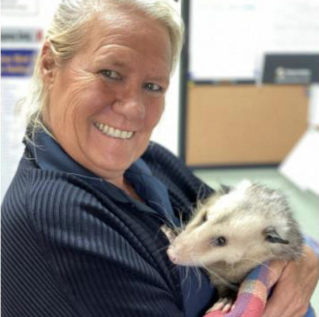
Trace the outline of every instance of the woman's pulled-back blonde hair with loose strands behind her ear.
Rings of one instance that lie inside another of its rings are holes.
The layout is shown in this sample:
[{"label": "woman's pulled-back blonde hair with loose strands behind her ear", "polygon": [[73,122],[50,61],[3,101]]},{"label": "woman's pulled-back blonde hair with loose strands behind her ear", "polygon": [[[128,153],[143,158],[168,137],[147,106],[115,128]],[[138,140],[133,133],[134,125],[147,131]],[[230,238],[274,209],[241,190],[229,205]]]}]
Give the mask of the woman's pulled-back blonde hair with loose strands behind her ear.
[{"label": "woman's pulled-back blonde hair with loose strands behind her ear", "polygon": [[[63,66],[83,45],[85,33],[94,23],[93,18],[97,14],[107,14],[108,6],[115,5],[141,13],[167,28],[172,47],[173,71],[182,47],[184,26],[179,14],[170,4],[172,2],[173,0],[61,0],[45,41],[50,45],[55,63]],[[39,127],[47,131],[42,121],[43,111],[48,104],[48,93],[42,79],[41,54],[36,60],[31,91],[24,103],[24,117],[29,131],[32,128],[34,132]]]}]

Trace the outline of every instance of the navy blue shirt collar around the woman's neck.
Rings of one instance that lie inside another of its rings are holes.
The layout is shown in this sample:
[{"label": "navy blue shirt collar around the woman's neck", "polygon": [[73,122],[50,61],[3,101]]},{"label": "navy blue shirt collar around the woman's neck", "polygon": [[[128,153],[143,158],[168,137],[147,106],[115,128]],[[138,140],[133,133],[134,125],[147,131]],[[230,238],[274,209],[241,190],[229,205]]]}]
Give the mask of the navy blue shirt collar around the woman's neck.
[{"label": "navy blue shirt collar around the woman's neck", "polygon": [[35,133],[33,142],[24,141],[37,164],[45,170],[64,172],[82,178],[96,190],[122,203],[133,203],[138,209],[155,213],[168,219],[175,225],[179,224],[169,200],[166,186],[152,176],[152,172],[142,159],[135,161],[125,172],[125,177],[133,185],[145,204],[131,198],[124,190],[105,181],[82,165],[75,162],[63,148],[45,131]]}]

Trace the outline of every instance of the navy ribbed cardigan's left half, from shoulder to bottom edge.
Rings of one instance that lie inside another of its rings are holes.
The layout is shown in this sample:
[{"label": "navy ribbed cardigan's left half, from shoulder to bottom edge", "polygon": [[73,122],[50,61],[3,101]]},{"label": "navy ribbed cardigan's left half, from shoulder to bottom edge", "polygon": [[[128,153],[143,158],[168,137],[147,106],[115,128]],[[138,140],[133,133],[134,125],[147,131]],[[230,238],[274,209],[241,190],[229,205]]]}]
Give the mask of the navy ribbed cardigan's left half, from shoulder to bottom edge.
[{"label": "navy ribbed cardigan's left half, from shoulder to bottom edge", "polygon": [[2,210],[3,316],[183,315],[177,273],[160,252],[167,241],[150,216],[27,161]]}]

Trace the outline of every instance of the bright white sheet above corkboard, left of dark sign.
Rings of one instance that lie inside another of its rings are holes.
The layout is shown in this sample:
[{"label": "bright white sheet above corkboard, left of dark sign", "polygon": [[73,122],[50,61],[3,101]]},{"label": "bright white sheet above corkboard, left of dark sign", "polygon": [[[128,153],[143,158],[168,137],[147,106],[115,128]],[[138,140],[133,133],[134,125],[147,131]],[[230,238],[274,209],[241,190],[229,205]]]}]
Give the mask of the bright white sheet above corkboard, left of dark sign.
[{"label": "bright white sheet above corkboard, left of dark sign", "polygon": [[251,79],[258,49],[258,1],[192,0],[189,70],[192,79]]}]

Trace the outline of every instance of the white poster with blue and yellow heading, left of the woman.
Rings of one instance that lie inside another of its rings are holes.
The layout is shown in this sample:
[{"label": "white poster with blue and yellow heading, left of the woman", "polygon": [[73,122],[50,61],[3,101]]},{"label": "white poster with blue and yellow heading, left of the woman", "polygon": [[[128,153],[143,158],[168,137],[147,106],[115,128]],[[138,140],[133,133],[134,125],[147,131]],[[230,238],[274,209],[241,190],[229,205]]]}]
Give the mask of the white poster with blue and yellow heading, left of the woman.
[{"label": "white poster with blue and yellow heading, left of the woman", "polygon": [[[38,32],[34,30],[34,33]],[[11,35],[10,35],[11,34]],[[8,37],[18,34],[8,32]],[[20,33],[19,33],[20,34]],[[1,200],[16,172],[22,156],[22,144],[26,127],[19,116],[19,101],[28,94],[33,66],[38,52],[35,43],[27,48],[14,48],[17,42],[2,45],[1,49]],[[38,40],[36,41],[36,43]]]}]

